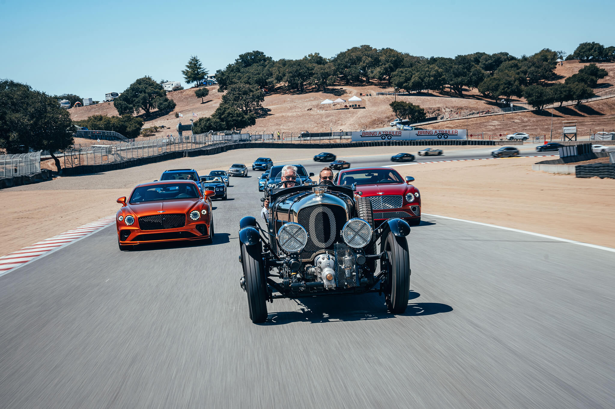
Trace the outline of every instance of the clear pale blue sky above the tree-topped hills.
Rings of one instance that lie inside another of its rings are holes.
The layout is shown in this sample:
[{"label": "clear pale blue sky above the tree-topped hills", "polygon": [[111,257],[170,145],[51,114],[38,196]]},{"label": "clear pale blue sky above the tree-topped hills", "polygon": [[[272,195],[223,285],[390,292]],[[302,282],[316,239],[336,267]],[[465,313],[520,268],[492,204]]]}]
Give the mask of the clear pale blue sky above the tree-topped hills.
[{"label": "clear pale blue sky above the tree-topped hills", "polygon": [[615,1],[0,0],[0,78],[95,100],[135,79],[185,80],[197,55],[213,74],[240,53],[325,57],[354,47],[423,56],[615,45]]}]

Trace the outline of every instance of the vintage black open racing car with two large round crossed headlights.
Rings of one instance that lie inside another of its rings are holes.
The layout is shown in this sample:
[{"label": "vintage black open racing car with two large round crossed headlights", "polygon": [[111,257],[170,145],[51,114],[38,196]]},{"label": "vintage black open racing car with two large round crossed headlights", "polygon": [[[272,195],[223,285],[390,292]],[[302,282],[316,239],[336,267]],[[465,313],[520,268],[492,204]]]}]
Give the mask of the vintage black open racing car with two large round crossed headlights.
[{"label": "vintage black open racing car with two large round crossed headlights", "polygon": [[379,292],[391,313],[405,312],[408,223],[394,218],[374,229],[370,201],[355,199],[354,186],[267,190],[264,226],[252,216],[239,222],[240,286],[253,323],[266,321],[267,301],[285,297]]}]

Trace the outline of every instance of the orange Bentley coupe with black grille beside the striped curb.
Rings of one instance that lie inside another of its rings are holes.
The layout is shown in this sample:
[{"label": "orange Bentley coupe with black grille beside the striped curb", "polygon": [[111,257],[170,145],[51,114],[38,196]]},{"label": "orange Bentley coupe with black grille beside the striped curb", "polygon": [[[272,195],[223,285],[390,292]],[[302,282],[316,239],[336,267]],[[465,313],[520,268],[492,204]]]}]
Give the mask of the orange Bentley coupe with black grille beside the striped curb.
[{"label": "orange Bentley coupe with black grille beside the striped curb", "polygon": [[213,215],[206,190],[191,180],[169,180],[137,185],[130,198],[120,197],[117,211],[117,245],[132,250],[141,243],[177,240],[213,241]]}]

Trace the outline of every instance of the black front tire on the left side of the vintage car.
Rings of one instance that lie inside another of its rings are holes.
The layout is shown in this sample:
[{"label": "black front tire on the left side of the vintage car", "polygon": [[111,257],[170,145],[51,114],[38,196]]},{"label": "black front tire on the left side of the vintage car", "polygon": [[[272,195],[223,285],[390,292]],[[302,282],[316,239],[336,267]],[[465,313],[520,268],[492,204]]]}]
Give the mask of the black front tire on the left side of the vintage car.
[{"label": "black front tire on the left side of the vintage car", "polygon": [[267,320],[267,287],[263,266],[263,245],[241,245],[241,259],[244,266],[245,292],[248,294],[250,319],[255,324]]}]

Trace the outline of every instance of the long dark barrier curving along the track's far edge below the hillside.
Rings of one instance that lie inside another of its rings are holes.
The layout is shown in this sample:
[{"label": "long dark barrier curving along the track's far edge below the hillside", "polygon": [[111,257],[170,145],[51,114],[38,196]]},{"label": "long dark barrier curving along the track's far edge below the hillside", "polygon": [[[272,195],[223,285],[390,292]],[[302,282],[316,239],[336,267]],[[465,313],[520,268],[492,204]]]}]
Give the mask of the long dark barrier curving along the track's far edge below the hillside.
[{"label": "long dark barrier curving along the track's far edge below the hillside", "polygon": [[443,146],[443,145],[496,145],[493,140],[382,140],[370,142],[347,142],[347,143],[285,143],[285,142],[229,142],[216,143],[207,147],[186,149],[180,151],[164,152],[159,155],[145,156],[144,158],[125,159],[124,161],[110,162],[98,165],[82,165],[75,167],[65,167],[64,175],[84,175],[109,170],[125,169],[127,167],[141,166],[150,163],[178,159],[185,156],[191,158],[202,155],[216,155],[216,153],[226,152],[234,149],[245,148],[264,148],[264,149],[284,149],[284,148],[367,148],[367,147],[389,147],[389,146]]}]

